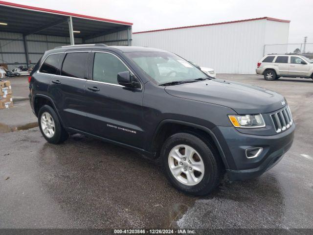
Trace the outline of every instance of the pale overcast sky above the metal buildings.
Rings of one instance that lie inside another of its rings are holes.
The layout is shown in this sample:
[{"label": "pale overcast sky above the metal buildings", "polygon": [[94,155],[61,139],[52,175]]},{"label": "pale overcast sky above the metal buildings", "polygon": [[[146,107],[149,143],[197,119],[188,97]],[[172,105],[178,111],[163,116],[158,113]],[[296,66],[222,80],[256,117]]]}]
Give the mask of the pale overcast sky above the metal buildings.
[{"label": "pale overcast sky above the metal buildings", "polygon": [[133,23],[133,32],[259,17],[290,20],[289,43],[313,43],[313,0],[7,0]]}]

